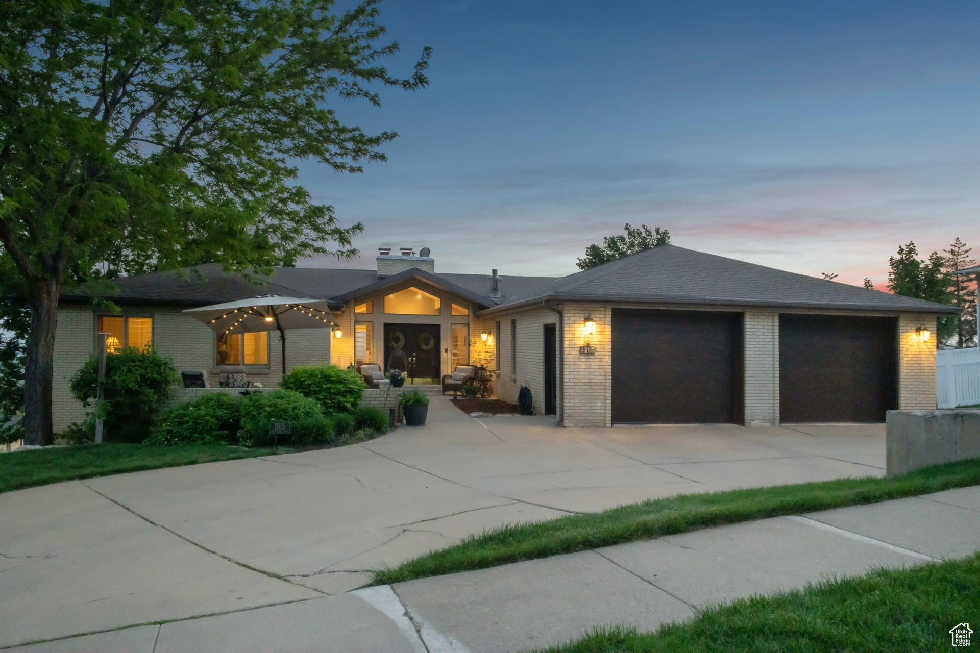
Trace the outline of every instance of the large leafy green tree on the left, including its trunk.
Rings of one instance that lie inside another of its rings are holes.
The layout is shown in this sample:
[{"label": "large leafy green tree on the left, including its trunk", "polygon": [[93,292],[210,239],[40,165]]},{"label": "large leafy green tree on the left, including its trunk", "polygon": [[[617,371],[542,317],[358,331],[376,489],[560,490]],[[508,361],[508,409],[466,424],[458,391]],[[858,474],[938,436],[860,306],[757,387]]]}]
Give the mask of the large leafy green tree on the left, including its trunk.
[{"label": "large leafy green tree on the left, including its trunk", "polygon": [[[101,261],[267,268],[350,255],[363,227],[295,182],[360,172],[396,137],[328,104],[417,89],[381,58],[376,0],[7,0],[0,4],[0,243],[30,308],[25,440],[52,441],[66,283]],[[345,111],[350,111],[346,109]]]}]

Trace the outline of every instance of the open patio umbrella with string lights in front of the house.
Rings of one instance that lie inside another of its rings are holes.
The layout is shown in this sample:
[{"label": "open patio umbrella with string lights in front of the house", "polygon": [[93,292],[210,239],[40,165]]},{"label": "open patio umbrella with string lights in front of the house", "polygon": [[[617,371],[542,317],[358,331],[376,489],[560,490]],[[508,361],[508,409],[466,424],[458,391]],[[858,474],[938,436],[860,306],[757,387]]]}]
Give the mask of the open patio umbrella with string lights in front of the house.
[{"label": "open patio umbrella with string lights in front of the house", "polygon": [[264,295],[237,302],[213,303],[188,308],[199,321],[218,333],[279,332],[282,342],[282,373],[286,373],[286,329],[323,329],[340,326],[322,300],[281,295]]}]

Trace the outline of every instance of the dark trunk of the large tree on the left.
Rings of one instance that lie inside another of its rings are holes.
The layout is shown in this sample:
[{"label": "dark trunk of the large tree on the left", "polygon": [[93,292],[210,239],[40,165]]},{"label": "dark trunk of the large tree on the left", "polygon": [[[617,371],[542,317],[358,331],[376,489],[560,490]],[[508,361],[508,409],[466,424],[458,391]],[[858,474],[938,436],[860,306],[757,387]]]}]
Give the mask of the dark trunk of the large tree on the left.
[{"label": "dark trunk of the large tree on the left", "polygon": [[55,327],[61,284],[33,284],[30,298],[30,333],[24,370],[24,443],[54,443],[51,387],[54,374]]}]

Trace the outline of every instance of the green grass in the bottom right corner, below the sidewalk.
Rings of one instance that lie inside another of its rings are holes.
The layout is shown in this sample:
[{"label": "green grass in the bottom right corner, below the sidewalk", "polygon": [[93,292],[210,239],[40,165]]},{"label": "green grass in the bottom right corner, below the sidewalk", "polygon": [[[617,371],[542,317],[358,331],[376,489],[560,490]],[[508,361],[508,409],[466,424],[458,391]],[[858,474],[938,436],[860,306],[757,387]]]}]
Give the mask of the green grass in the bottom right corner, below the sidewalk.
[{"label": "green grass in the bottom right corner, below the sidewalk", "polygon": [[949,630],[977,606],[980,553],[739,599],[655,632],[594,630],[543,653],[951,651]]}]

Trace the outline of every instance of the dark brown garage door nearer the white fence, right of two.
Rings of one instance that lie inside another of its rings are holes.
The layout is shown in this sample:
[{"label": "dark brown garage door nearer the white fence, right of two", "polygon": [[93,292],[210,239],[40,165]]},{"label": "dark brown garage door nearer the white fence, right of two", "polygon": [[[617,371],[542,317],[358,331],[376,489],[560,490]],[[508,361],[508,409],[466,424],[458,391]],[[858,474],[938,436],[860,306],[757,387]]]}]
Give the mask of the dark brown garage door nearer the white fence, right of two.
[{"label": "dark brown garage door nearer the white fence, right of two", "polygon": [[779,316],[781,422],[883,422],[898,407],[894,317]]}]

